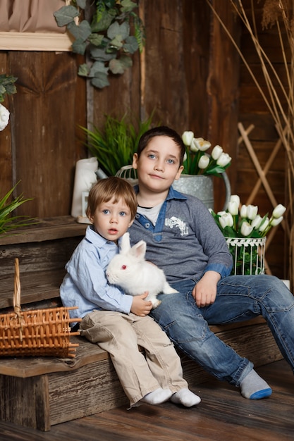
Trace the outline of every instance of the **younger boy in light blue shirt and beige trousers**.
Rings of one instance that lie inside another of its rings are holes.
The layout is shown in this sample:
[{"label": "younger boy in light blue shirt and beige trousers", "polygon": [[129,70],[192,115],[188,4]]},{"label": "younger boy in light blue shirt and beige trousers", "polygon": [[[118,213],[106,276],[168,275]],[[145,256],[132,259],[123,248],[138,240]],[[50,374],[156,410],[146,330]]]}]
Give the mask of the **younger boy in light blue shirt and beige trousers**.
[{"label": "younger boy in light blue shirt and beige trousers", "polygon": [[82,318],[81,334],[109,352],[130,406],[171,399],[190,407],[200,397],[188,389],[173,344],[148,316],[147,292],[132,297],[106,279],[106,267],[136,209],[135,192],[125,180],[106,178],[92,187],[87,205],[92,225],[66,264],[61,299],[64,306],[78,306],[71,316]]}]

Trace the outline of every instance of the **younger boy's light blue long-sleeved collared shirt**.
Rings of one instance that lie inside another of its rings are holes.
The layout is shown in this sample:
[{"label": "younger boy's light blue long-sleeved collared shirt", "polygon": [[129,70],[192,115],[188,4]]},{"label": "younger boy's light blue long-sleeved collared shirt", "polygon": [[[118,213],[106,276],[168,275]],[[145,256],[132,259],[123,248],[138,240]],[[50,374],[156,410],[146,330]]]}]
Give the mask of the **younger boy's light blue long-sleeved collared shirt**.
[{"label": "younger boy's light blue long-sleeved collared shirt", "polygon": [[85,237],[66,263],[67,274],[60,287],[63,306],[78,306],[70,311],[71,318],[83,318],[93,309],[130,312],[133,297],[106,279],[106,267],[117,253],[114,242],[97,234],[92,225],[87,227]]}]

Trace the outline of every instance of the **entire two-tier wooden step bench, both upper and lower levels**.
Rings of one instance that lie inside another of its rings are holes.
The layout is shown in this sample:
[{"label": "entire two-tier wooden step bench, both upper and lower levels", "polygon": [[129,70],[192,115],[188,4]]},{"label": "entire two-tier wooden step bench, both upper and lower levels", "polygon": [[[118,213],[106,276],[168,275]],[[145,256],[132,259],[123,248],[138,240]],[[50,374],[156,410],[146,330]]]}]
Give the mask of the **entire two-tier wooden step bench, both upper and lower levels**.
[{"label": "entire two-tier wooden step bench, both upper and lower levels", "polygon": [[[42,220],[21,235],[0,237],[0,313],[11,311],[14,259],[20,259],[23,309],[59,306],[64,265],[85,233],[71,216]],[[282,359],[263,318],[212,326],[214,333],[255,366]],[[0,419],[49,430],[51,426],[114,407],[128,406],[107,352],[82,337],[75,359],[24,357],[0,359]],[[180,354],[190,385],[209,379],[195,362]]]}]

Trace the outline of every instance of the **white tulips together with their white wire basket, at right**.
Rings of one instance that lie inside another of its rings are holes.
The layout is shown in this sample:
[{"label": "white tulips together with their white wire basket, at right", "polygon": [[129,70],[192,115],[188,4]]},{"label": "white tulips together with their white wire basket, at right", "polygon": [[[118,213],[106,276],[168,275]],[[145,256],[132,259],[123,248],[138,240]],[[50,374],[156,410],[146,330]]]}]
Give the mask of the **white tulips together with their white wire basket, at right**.
[{"label": "white tulips together with their white wire basket, at right", "polygon": [[270,217],[268,214],[260,216],[258,206],[241,205],[240,197],[233,194],[226,211],[209,211],[226,237],[233,256],[232,274],[263,273],[267,233],[283,221],[286,207],[278,204]]}]

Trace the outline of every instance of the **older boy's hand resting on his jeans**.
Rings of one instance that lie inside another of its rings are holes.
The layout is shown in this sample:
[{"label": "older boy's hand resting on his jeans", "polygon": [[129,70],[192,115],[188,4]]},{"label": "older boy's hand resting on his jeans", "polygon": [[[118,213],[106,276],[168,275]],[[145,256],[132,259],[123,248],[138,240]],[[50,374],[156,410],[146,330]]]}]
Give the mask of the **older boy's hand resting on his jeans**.
[{"label": "older boy's hand resting on his jeans", "polygon": [[216,285],[220,278],[221,275],[216,273],[216,271],[207,271],[202,279],[197,282],[192,290],[192,296],[198,308],[214,303],[216,299]]}]

